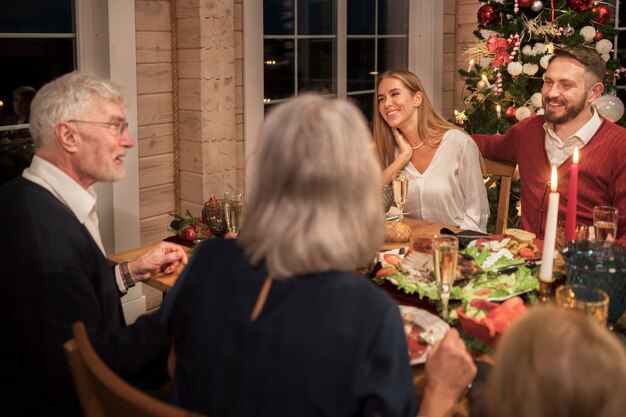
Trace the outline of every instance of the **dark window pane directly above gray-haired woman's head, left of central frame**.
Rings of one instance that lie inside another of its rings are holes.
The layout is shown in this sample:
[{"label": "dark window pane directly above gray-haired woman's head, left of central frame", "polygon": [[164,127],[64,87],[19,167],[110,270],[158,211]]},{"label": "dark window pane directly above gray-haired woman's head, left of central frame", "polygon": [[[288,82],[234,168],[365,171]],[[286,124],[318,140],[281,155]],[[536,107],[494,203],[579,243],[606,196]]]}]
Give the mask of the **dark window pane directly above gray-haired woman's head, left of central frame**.
[{"label": "dark window pane directly above gray-haired woman's head, left of central frame", "polygon": [[298,40],[298,92],[336,93],[335,41]]}]

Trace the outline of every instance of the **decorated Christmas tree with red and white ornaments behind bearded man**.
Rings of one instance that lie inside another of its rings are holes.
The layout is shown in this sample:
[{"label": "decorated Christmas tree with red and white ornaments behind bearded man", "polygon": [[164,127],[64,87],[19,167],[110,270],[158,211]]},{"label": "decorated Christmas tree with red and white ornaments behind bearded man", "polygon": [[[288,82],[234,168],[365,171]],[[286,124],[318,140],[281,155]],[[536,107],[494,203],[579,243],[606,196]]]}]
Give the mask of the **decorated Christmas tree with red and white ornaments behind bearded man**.
[{"label": "decorated Christmas tree with red and white ornaments behind bearded man", "polygon": [[[543,114],[543,74],[555,48],[585,45],[606,61],[604,95],[594,102],[600,114],[622,123],[624,105],[614,82],[626,69],[614,59],[617,30],[610,5],[593,0],[488,0],[478,10],[477,42],[460,69],[467,88],[466,110],[455,121],[470,133],[504,133],[533,114]],[[509,227],[520,220],[519,182],[511,190]],[[489,190],[492,213],[498,189]],[[493,216],[492,216],[493,217]],[[493,225],[488,227],[492,230]]]}]

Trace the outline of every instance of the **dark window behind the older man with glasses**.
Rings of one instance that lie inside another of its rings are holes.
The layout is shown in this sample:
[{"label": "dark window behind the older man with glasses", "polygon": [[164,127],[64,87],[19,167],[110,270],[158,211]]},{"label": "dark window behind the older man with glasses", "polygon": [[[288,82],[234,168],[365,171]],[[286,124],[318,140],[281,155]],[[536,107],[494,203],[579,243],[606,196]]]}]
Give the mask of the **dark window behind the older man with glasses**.
[{"label": "dark window behind the older man with glasses", "polygon": [[76,68],[74,21],[73,0],[0,4],[0,183],[30,163],[34,92]]}]

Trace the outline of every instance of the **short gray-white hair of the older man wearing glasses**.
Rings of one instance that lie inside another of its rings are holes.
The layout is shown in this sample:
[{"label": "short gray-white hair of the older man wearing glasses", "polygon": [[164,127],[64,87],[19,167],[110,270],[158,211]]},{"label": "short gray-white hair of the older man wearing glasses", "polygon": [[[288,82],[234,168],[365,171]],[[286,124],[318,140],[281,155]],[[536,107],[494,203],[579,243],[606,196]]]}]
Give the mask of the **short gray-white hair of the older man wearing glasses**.
[{"label": "short gray-white hair of the older man wearing glasses", "polygon": [[121,87],[92,74],[70,72],[44,85],[31,103],[30,133],[35,148],[54,140],[59,122],[82,119],[94,94],[120,106],[126,104]]}]

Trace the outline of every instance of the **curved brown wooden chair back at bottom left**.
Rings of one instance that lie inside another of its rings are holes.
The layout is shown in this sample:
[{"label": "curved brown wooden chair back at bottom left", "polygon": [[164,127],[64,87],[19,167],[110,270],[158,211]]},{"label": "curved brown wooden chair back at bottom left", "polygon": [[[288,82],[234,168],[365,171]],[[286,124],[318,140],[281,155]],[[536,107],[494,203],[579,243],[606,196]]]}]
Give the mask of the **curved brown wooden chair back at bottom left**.
[{"label": "curved brown wooden chair back at bottom left", "polygon": [[93,349],[85,325],[74,323],[64,345],[85,417],[192,417],[197,413],[151,397],[115,374]]}]

